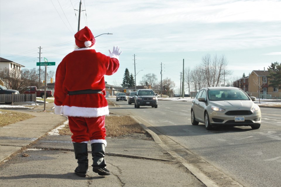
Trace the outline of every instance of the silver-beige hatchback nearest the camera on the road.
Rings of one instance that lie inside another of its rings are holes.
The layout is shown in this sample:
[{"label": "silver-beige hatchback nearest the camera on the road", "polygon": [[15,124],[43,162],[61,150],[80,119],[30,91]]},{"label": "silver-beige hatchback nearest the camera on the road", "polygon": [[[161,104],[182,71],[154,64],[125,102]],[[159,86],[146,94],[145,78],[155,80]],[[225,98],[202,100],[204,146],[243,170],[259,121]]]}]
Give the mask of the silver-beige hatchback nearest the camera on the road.
[{"label": "silver-beige hatchback nearest the camera on the road", "polygon": [[209,87],[201,89],[192,101],[191,123],[212,126],[261,126],[261,110],[243,90],[235,87]]}]

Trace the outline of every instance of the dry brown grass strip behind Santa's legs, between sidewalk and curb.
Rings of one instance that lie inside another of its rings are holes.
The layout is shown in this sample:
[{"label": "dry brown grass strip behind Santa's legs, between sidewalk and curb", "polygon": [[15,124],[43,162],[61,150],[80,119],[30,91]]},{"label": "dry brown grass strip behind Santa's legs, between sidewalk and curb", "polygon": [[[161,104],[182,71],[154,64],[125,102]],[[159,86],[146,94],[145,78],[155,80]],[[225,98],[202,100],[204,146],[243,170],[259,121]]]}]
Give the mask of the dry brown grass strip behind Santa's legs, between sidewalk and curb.
[{"label": "dry brown grass strip behind Santa's legs, between sidewalk and curb", "polygon": [[[132,133],[145,133],[145,130],[130,116],[106,116],[105,128],[107,137],[117,137]],[[68,125],[59,130],[61,135],[72,135]]]}]

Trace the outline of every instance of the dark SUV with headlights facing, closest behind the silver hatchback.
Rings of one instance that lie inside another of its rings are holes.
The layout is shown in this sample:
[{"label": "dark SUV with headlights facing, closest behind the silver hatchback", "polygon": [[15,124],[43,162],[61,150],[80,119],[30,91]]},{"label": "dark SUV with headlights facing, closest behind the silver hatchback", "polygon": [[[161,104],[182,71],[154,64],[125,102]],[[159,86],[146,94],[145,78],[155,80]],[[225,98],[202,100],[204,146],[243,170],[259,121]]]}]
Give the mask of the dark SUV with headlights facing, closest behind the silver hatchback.
[{"label": "dark SUV with headlights facing, closest behind the silver hatchback", "polygon": [[151,89],[140,89],[135,94],[135,108],[140,108],[140,106],[151,106],[152,108],[157,108],[157,97]]}]

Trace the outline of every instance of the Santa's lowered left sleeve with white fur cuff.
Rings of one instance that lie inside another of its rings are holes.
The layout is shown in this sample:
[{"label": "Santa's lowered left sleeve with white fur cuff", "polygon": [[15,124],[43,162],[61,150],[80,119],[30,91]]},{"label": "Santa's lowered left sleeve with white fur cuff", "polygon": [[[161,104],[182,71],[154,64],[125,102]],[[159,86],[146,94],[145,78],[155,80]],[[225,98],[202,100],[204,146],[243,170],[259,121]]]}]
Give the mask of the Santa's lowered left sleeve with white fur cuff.
[{"label": "Santa's lowered left sleeve with white fur cuff", "polygon": [[61,67],[61,63],[56,69],[56,82],[55,82],[55,92],[54,92],[54,107],[55,114],[63,114],[63,102],[65,99],[65,93],[63,91],[63,82],[65,77],[65,68]]}]

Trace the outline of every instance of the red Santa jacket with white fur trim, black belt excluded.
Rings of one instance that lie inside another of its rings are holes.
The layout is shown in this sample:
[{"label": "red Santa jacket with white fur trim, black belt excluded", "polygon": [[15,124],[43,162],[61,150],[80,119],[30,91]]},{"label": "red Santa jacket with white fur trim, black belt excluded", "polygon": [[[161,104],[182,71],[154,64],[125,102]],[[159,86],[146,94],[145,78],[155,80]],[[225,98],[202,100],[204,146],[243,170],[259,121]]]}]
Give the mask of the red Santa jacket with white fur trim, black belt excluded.
[{"label": "red Santa jacket with white fur trim, black belt excluded", "polygon": [[[118,58],[118,57],[117,57]],[[95,49],[75,49],[64,57],[56,70],[55,114],[74,117],[99,117],[109,114],[104,75],[119,68],[119,60]],[[100,93],[68,95],[68,91],[101,90]]]}]

